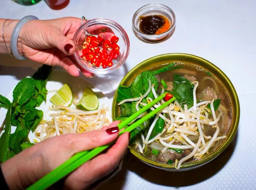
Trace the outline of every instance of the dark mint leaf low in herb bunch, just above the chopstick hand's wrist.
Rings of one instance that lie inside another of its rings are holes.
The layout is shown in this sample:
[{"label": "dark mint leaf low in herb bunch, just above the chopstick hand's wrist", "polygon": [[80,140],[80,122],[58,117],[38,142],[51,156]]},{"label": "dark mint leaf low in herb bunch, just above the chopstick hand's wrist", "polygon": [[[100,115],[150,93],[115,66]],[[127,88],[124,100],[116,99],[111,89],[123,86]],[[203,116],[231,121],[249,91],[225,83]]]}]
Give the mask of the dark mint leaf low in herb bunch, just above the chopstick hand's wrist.
[{"label": "dark mint leaf low in herb bunch, just above the chopstick hand's wrist", "polygon": [[18,154],[19,152],[22,151],[20,144],[23,141],[23,139],[27,137],[28,133],[28,129],[23,129],[13,134],[10,134],[9,147],[15,152],[15,154]]}]

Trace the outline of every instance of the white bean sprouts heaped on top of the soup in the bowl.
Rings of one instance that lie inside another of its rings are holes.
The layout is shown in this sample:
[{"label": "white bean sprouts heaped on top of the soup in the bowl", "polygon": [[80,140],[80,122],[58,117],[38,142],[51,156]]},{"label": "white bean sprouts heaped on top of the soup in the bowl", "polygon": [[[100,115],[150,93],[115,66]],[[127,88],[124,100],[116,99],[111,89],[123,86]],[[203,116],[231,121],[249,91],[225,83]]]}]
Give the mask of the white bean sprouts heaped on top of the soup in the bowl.
[{"label": "white bean sprouts heaped on top of the soup in the bowl", "polygon": [[[154,121],[152,122],[148,129],[146,137],[144,137],[143,134],[140,134],[140,137],[142,138],[142,144],[140,144],[140,142],[136,140],[136,145],[140,153],[143,153],[145,151],[145,147],[147,145],[150,145],[154,141],[160,142],[165,147],[162,149],[162,153],[164,153],[168,148],[193,149],[193,151],[189,155],[185,156],[181,160],[176,159],[174,167],[176,169],[179,169],[184,161],[189,160],[192,157],[194,157],[195,159],[202,157],[205,153],[208,153],[209,148],[212,147],[215,141],[226,138],[226,136],[218,136],[218,121],[223,115],[222,111],[218,109],[219,114],[218,116],[216,116],[213,106],[214,99],[197,103],[196,88],[198,87],[199,83],[197,81],[194,81],[193,84],[193,106],[188,109],[187,104],[184,104],[183,109],[181,105],[177,102],[177,100],[175,100],[169,106],[161,110],[155,116]],[[139,110],[139,104],[142,106],[146,106],[146,103],[142,103],[142,99],[145,98],[150,91],[153,92],[154,98],[158,97],[154,89],[154,84],[151,85],[150,80],[148,80],[148,85],[148,90],[144,95],[138,98],[125,99],[121,101],[118,105],[130,101],[138,101],[136,103],[137,111]],[[164,89],[162,88],[161,94],[163,93]],[[153,99],[147,98],[148,103],[152,101]],[[154,110],[155,108],[159,107],[162,103],[164,103],[163,100],[155,104],[150,109]],[[208,104],[210,104],[211,109],[207,108]],[[165,114],[167,114],[169,117],[165,117]],[[210,114],[212,114],[212,118],[209,117]],[[138,118],[140,117],[143,117],[143,115],[140,115]],[[157,134],[155,137],[149,140],[150,134],[159,117],[164,119],[165,127],[161,133]],[[144,123],[144,125],[146,125],[146,123]],[[216,128],[215,133],[213,134],[212,137],[206,136],[203,133],[202,129],[204,127]],[[192,142],[187,137],[188,135],[199,136],[197,143]],[[178,142],[181,142],[182,145],[177,145]]]}]

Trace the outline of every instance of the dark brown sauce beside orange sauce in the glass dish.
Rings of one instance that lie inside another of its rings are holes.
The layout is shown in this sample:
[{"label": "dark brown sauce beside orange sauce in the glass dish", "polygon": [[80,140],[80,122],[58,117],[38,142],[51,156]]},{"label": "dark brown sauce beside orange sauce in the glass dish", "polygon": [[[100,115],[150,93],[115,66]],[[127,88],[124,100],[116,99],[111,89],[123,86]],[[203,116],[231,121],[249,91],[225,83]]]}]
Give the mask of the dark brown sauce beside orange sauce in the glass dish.
[{"label": "dark brown sauce beside orange sauce in the glass dish", "polygon": [[165,23],[162,15],[140,16],[139,29],[144,34],[154,35]]}]

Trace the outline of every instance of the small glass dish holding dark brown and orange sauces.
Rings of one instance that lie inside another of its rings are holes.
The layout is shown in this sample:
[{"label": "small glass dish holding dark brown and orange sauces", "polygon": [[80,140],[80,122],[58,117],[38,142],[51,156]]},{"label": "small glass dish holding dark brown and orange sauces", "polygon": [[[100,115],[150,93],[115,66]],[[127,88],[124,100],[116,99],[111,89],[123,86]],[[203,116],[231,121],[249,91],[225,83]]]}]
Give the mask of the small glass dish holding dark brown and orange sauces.
[{"label": "small glass dish holding dark brown and orange sauces", "polygon": [[[166,23],[168,21],[169,23]],[[166,24],[168,24],[168,28],[162,28],[166,27]],[[151,3],[144,5],[135,12],[132,25],[138,38],[146,42],[159,42],[173,34],[175,15],[169,7],[159,3]]]}]

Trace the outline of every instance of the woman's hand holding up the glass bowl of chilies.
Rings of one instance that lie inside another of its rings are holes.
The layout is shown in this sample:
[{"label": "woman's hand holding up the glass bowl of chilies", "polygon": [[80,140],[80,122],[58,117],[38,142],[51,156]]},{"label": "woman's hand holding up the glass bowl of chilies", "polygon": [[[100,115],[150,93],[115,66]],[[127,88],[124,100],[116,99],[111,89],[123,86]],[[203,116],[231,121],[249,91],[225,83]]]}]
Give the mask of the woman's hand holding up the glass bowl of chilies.
[{"label": "woman's hand holding up the glass bowl of chilies", "polygon": [[[31,20],[20,31],[18,52],[30,60],[47,65],[63,67],[72,76],[79,76],[79,70],[72,61],[75,44],[72,41],[81,19],[65,17],[52,20]],[[82,68],[86,77],[92,77]]]}]

